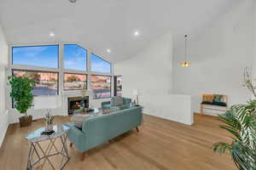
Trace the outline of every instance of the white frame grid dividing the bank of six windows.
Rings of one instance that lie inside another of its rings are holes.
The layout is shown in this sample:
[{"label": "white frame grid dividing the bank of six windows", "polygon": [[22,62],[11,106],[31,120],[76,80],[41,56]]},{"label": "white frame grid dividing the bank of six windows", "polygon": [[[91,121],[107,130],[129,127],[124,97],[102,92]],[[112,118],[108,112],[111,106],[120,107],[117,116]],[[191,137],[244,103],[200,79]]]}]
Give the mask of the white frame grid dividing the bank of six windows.
[{"label": "white frame grid dividing the bank of six windows", "polygon": [[[79,70],[68,70],[64,68],[64,45],[65,44],[76,44],[81,48],[86,49],[87,51],[87,59],[86,59],[86,71],[79,71]],[[37,65],[15,65],[13,64],[13,53],[12,49],[15,47],[37,47],[37,46],[58,46],[58,68],[53,68],[53,67],[44,67],[44,66],[37,66]],[[12,75],[12,71],[38,71],[38,72],[55,72],[58,74],[58,87],[57,87],[57,95],[55,96],[61,96],[64,97],[67,95],[80,95],[79,92],[81,90],[64,90],[64,73],[70,73],[70,74],[82,74],[86,75],[87,77],[87,82],[86,82],[86,88],[87,90],[92,90],[91,88],[91,81],[90,77],[91,76],[102,76],[102,77],[110,77],[110,97],[113,96],[113,64],[109,62],[106,59],[103,59],[101,56],[96,55],[103,61],[108,62],[110,65],[110,72],[97,72],[97,71],[91,71],[91,55],[95,54],[95,51],[91,48],[86,48],[79,42],[46,42],[46,43],[10,43],[9,44],[9,54],[8,54],[8,66],[6,67],[5,70],[5,75],[6,77],[9,77]],[[6,78],[6,82],[8,82],[8,79]],[[10,88],[8,84],[5,84],[5,93],[6,93],[6,99],[7,99],[7,109],[12,109],[11,107],[11,98],[9,97],[9,92]],[[39,96],[44,96],[44,95],[39,95]],[[102,98],[102,100],[106,100],[109,98]],[[96,99],[93,99],[93,96],[91,96],[91,102],[95,101]]]}]

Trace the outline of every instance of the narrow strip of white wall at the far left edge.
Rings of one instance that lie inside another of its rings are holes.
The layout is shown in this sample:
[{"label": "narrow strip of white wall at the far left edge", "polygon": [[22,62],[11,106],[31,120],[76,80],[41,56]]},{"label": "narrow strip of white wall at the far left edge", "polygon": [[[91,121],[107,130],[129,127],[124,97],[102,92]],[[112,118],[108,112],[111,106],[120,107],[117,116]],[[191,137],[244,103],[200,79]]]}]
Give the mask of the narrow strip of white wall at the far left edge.
[{"label": "narrow strip of white wall at the far left edge", "polygon": [[0,26],[0,147],[9,125],[8,113],[5,109],[5,67],[8,64],[8,45]]}]

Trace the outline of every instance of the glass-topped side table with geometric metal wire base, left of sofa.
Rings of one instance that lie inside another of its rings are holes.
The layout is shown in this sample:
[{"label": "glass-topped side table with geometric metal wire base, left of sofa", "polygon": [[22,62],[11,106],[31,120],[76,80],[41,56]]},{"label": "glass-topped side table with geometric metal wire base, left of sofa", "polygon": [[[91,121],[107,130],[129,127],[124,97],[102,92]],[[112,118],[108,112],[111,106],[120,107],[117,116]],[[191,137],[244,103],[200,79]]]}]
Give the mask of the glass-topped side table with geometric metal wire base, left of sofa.
[{"label": "glass-topped side table with geometric metal wire base, left of sofa", "polygon": [[[53,127],[55,133],[52,133],[51,135],[41,135],[41,133],[44,132],[44,129],[45,127],[41,127],[38,130],[29,133],[25,137],[25,139],[30,143],[26,169],[32,169],[32,167],[34,167],[38,162],[41,162],[41,160],[43,160],[41,169],[43,169],[46,161],[49,162],[49,165],[50,167],[52,167],[52,169],[56,169],[49,159],[50,156],[56,155],[62,156],[61,165],[59,168],[57,168],[62,169],[63,167],[66,166],[67,161],[69,161],[70,159],[67,152],[67,130],[69,129],[69,127],[65,125],[55,125]],[[61,151],[58,150],[58,148],[55,145],[55,141],[57,139],[61,140]],[[44,150],[42,145],[40,144],[43,141],[49,141],[46,150]],[[55,149],[55,152],[52,153],[53,149]],[[33,160],[34,155],[37,158],[36,160]]]}]

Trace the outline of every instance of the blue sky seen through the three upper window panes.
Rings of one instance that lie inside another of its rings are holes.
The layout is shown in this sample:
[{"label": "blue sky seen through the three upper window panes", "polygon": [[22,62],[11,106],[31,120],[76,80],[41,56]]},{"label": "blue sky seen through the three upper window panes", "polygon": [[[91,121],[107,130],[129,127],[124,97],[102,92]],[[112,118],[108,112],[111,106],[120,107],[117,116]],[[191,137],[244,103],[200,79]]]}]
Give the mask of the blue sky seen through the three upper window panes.
[{"label": "blue sky seen through the three upper window panes", "polygon": [[[13,64],[58,68],[58,45],[13,48]],[[76,44],[64,46],[64,68],[86,71],[87,50]],[[109,73],[111,65],[91,54],[91,71]]]}]

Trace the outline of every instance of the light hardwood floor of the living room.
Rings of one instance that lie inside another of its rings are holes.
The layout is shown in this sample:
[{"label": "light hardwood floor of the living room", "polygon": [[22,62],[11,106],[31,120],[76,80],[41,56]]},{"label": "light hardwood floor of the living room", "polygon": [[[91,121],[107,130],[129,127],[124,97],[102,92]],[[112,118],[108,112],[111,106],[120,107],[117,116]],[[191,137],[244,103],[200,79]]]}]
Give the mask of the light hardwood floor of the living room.
[{"label": "light hardwood floor of the living room", "polygon": [[[69,122],[69,116],[58,116],[55,123]],[[154,116],[144,116],[140,133],[136,129],[125,133],[107,144],[89,150],[84,161],[73,147],[69,150],[70,161],[65,169],[79,170],[233,170],[228,154],[219,156],[212,151],[212,144],[229,141],[227,133],[218,128],[218,120],[212,116],[195,115],[195,124],[186,126]],[[0,169],[26,169],[28,145],[23,137],[38,127],[9,126],[0,149]],[[52,157],[54,161],[58,158]],[[45,167],[44,169],[50,169]]]}]

